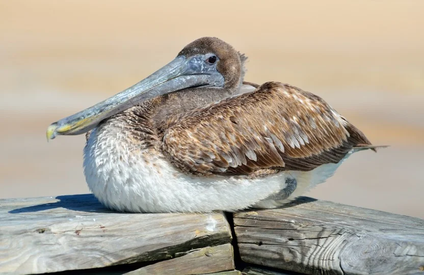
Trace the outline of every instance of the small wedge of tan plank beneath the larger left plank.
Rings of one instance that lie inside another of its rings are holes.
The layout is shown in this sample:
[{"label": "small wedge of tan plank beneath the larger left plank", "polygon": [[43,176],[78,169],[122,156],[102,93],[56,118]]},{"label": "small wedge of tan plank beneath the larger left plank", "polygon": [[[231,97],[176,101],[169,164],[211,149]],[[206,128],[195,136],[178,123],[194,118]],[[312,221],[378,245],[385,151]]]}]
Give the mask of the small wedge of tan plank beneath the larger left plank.
[{"label": "small wedge of tan plank beneath the larger left plank", "polygon": [[175,274],[190,275],[213,273],[234,269],[234,257],[230,243],[192,250],[186,255],[144,266],[125,273],[128,275]]}]

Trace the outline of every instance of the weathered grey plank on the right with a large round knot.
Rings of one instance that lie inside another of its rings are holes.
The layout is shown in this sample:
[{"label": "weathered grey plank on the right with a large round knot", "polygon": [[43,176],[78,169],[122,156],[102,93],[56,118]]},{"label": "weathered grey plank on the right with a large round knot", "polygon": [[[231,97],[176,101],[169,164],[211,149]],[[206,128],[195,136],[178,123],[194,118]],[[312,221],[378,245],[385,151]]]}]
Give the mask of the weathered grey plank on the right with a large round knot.
[{"label": "weathered grey plank on the right with a large round knot", "polygon": [[416,274],[424,221],[302,198],[291,207],[234,214],[242,260],[307,274]]}]

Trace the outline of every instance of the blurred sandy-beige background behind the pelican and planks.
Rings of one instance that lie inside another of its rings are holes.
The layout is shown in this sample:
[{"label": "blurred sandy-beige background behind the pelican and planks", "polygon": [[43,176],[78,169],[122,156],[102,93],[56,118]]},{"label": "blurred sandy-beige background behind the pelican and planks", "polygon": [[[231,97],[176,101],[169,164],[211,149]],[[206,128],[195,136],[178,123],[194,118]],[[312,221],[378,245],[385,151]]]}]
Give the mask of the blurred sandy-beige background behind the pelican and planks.
[{"label": "blurred sandy-beige background behind the pelican and planks", "polygon": [[423,14],[423,1],[0,1],[0,198],[88,193],[84,135],[47,143],[47,126],[216,36],[249,57],[246,80],[320,95],[391,145],[308,196],[424,218]]}]

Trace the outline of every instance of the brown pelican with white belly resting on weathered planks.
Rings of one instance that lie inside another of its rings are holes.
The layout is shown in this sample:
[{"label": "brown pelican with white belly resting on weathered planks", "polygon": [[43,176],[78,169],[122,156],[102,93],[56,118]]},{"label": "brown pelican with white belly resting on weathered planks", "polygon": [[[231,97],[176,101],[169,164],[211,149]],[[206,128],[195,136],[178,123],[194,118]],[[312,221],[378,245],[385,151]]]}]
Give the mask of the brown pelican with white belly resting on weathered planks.
[{"label": "brown pelican with white belly resting on weathered planks", "polygon": [[87,133],[89,188],[129,212],[278,207],[353,152],[375,151],[320,97],[243,82],[245,60],[217,38],[195,40],[136,85],[52,123],[47,140]]}]

